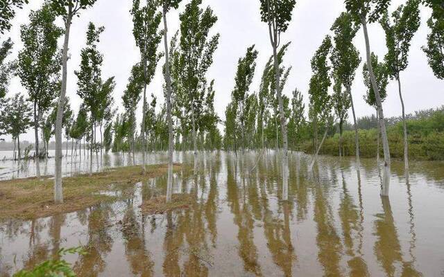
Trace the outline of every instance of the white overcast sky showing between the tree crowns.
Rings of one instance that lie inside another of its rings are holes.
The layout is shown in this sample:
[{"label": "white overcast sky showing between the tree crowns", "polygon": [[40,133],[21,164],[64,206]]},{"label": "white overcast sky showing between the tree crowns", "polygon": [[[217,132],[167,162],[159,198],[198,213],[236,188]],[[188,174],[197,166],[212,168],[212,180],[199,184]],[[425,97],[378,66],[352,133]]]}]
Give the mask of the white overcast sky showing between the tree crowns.
[{"label": "white overcast sky showing between the tree crowns", "polygon": [[[391,10],[394,10],[403,2],[402,0],[393,0]],[[17,11],[17,15],[12,21],[12,29],[1,37],[2,41],[6,37],[11,37],[15,42],[10,58],[17,57],[18,51],[22,48],[19,36],[20,26],[28,23],[29,12],[40,8],[42,3],[42,0],[34,0],[23,10]],[[85,31],[89,21],[94,22],[96,26],[105,26],[105,31],[101,35],[101,42],[99,43],[99,50],[104,57],[102,76],[104,79],[115,76],[117,87],[114,91],[114,98],[120,111],[122,110],[121,96],[130,75],[130,69],[139,61],[139,51],[135,46],[132,33],[133,22],[129,12],[131,3],[130,0],[98,0],[93,8],[83,10],[80,17],[74,19],[69,41],[71,59],[68,61],[67,96],[71,99],[71,105],[75,111],[78,110],[81,101],[76,95],[77,78],[74,71],[79,68],[80,49],[85,46]],[[169,12],[169,37],[178,30],[178,15],[179,12],[182,12],[186,3],[189,3],[189,0],[182,1],[178,11],[172,10]],[[214,64],[207,77],[209,80],[215,80],[215,107],[219,116],[224,118],[225,107],[230,102],[230,93],[234,87],[234,74],[239,57],[244,55],[246,48],[252,44],[255,44],[257,51],[259,51],[255,78],[250,87],[250,92],[253,93],[259,88],[262,70],[272,53],[272,48],[268,39],[267,26],[260,21],[259,0],[204,0],[202,7],[205,8],[209,5],[219,18],[213,28],[213,33],[220,33],[221,38],[219,39],[219,48],[214,54]],[[311,77],[310,59],[325,35],[331,33],[330,27],[334,19],[343,10],[345,10],[345,7],[341,0],[298,0],[293,11],[293,20],[287,32],[282,34],[282,42],[291,42],[287,55],[284,57],[284,64],[293,66],[283,93],[291,96],[291,92],[297,87],[302,91],[306,107],[308,107],[307,91],[309,78]],[[429,33],[426,24],[429,15],[429,9],[422,8],[421,26],[411,43],[409,67],[401,73],[407,113],[419,109],[438,107],[444,103],[444,82],[434,77],[427,64],[425,54],[420,49],[421,46],[425,45],[427,33]],[[62,26],[61,21],[58,24]],[[379,24],[372,24],[369,28],[369,35],[372,51],[382,58],[386,53],[384,31]],[[361,53],[361,59],[365,60],[362,30],[359,30],[354,42]],[[61,46],[62,38],[60,39]],[[163,50],[162,46],[163,44],[160,46],[160,51]],[[161,102],[163,102],[163,78],[160,65],[163,62],[161,60],[158,64],[155,80],[148,87],[148,96],[154,93]],[[10,94],[26,93],[18,78],[12,79],[9,89]],[[361,64],[352,87],[357,116],[375,113],[373,108],[364,102],[365,92]],[[139,106],[141,105],[142,102]],[[140,111],[138,114],[141,118],[142,112]],[[398,87],[393,81],[388,84],[388,97],[384,102],[384,114],[386,116],[399,116],[401,114]],[[138,119],[140,120],[140,118]],[[6,137],[6,139],[10,140],[10,137]],[[31,129],[28,134],[22,136],[22,140],[34,140]]]}]

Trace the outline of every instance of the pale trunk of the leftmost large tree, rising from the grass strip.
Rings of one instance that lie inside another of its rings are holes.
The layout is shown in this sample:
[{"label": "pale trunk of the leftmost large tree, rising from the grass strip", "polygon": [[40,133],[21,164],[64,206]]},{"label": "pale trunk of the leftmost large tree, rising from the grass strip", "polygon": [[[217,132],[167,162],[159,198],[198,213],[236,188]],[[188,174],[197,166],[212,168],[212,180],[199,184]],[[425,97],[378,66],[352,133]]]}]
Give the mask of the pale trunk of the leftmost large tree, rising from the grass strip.
[{"label": "pale trunk of the leftmost large tree, rising from the grass strip", "polygon": [[68,8],[68,15],[65,22],[65,42],[63,43],[62,53],[62,89],[60,90],[60,97],[58,98],[57,117],[56,117],[56,172],[54,176],[54,202],[63,203],[63,188],[62,188],[62,120],[63,108],[65,104],[65,94],[67,92],[67,60],[68,60],[68,43],[69,30],[71,28],[71,9]]}]

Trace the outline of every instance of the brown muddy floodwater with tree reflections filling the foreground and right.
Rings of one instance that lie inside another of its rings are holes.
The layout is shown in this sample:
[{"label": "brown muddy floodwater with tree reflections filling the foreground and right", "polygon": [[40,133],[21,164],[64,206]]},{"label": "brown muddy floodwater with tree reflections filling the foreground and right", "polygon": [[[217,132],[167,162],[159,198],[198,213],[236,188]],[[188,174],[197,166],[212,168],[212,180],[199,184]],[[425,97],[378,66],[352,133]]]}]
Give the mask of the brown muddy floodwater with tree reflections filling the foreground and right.
[{"label": "brown muddy floodwater with tree reflections filling the foreground and right", "polygon": [[196,175],[178,172],[175,192],[194,199],[184,211],[142,215],[166,193],[160,177],[128,186],[122,202],[3,221],[0,276],[78,245],[87,255],[67,256],[78,276],[443,276],[444,163],[412,162],[406,184],[393,162],[380,197],[375,160],[361,161],[359,177],[337,157],[309,173],[309,157],[292,153],[282,202],[279,158],[258,156],[207,153]]}]

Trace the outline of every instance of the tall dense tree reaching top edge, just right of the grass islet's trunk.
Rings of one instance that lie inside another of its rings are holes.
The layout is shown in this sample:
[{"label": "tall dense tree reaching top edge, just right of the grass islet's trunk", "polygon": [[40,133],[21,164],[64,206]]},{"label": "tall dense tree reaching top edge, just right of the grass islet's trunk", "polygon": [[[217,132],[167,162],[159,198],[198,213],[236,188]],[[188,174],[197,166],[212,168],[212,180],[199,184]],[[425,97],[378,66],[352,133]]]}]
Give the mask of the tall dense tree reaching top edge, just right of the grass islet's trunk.
[{"label": "tall dense tree reaching top edge, just right of the grass islet's trunk", "polygon": [[206,73],[213,62],[213,53],[219,44],[219,33],[209,37],[217,17],[213,10],[200,8],[202,0],[192,0],[180,14],[180,63],[183,71],[180,77],[182,89],[187,93],[184,103],[191,113],[193,135],[194,168],[197,169],[197,126],[199,111],[203,105],[203,84]]}]

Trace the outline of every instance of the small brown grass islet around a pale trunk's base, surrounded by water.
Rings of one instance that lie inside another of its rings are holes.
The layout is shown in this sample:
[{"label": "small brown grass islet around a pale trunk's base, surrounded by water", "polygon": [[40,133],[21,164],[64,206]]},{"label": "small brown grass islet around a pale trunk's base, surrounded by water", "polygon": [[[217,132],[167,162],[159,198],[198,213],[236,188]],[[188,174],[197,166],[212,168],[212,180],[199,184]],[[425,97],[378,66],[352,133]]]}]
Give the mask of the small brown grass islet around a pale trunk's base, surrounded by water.
[{"label": "small brown grass islet around a pale trunk's base, surrounded by water", "polygon": [[165,197],[165,195],[153,197],[142,204],[142,213],[167,213],[173,210],[189,208],[193,201],[191,195],[185,193],[173,194],[172,198],[172,201],[167,203],[167,197]]}]

